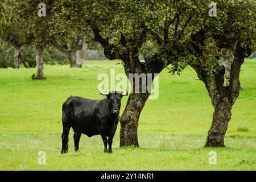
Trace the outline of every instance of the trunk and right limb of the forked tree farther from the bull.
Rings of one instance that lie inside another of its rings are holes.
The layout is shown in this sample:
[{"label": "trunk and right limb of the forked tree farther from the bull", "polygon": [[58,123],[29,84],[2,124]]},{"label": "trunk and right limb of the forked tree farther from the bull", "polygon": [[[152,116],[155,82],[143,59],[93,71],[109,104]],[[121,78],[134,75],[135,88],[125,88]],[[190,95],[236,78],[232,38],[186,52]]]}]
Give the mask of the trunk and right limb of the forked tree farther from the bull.
[{"label": "trunk and right limb of the forked tree farther from the bull", "polygon": [[[225,72],[218,72],[214,81],[204,81],[214,106],[212,126],[208,131],[205,147],[225,147],[224,137],[231,119],[232,107],[240,93],[240,70],[246,57],[245,49],[240,46],[234,53],[234,56],[233,53],[225,54],[226,60],[222,61],[222,64],[225,62]],[[226,86],[223,85],[224,76],[227,79]]]}]

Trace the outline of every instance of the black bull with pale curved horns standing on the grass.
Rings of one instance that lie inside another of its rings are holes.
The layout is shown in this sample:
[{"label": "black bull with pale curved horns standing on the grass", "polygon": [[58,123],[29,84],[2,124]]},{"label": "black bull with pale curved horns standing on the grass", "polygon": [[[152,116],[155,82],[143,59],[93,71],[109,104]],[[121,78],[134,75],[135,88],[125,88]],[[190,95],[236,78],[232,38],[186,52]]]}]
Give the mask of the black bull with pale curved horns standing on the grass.
[{"label": "black bull with pale curved horns standing on the grass", "polygon": [[[112,142],[119,120],[119,110],[123,92],[101,93],[107,98],[89,100],[82,97],[69,97],[62,106],[63,133],[61,154],[68,152],[69,130],[74,130],[75,151],[79,150],[81,134],[88,137],[101,135],[104,152],[112,152]],[[108,138],[107,138],[108,137]],[[107,148],[109,143],[109,150]]]}]

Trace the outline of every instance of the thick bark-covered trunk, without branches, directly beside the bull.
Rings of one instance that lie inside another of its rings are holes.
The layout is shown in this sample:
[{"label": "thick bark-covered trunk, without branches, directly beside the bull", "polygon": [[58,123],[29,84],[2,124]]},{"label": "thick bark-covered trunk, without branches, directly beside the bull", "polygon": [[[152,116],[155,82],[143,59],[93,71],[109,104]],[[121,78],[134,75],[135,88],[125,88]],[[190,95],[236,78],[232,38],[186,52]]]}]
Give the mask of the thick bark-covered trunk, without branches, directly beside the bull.
[{"label": "thick bark-covered trunk, without branches, directly beside the bull", "polygon": [[[135,54],[134,54],[135,55]],[[133,57],[133,61],[139,61],[138,56]],[[139,116],[141,111],[150,96],[149,88],[151,82],[147,82],[147,75],[141,65],[131,66],[126,64],[126,76],[129,77],[131,82],[131,94],[128,98],[125,110],[119,119],[121,123],[120,129],[120,147],[134,146],[139,147],[137,129],[139,125]],[[130,73],[134,73],[133,76]],[[138,75],[138,76],[135,76]],[[154,77],[152,77],[152,80]]]}]

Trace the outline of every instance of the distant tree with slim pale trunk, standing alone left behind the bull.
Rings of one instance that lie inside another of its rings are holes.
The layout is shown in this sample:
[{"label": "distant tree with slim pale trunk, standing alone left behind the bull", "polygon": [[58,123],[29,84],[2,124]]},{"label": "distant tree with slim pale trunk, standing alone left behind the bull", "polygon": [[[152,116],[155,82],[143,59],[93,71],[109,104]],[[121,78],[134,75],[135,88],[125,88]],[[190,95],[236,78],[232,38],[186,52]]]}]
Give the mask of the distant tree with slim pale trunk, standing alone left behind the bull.
[{"label": "distant tree with slim pale trunk, standing alone left behind the bull", "polygon": [[18,12],[19,18],[22,19],[23,27],[32,35],[33,44],[36,47],[37,72],[33,78],[37,80],[44,79],[43,52],[51,44],[54,37],[51,31],[52,24],[54,23],[51,20],[51,5],[54,1],[46,0],[43,4],[41,1],[34,0],[16,0],[16,2],[18,3],[16,11]]}]

